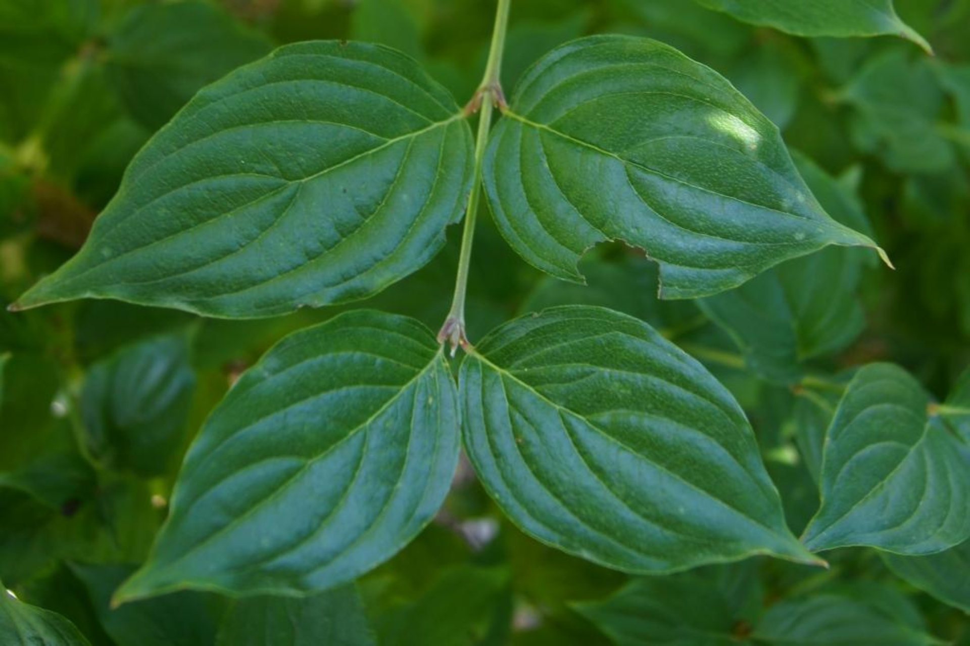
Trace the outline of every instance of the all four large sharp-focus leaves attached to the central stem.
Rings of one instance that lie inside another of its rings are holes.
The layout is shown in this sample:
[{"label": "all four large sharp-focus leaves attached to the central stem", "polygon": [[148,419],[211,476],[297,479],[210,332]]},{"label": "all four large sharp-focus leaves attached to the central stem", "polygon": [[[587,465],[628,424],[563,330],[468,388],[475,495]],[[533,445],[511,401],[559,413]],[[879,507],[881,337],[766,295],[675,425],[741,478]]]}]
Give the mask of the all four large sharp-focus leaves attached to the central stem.
[{"label": "all four large sharp-focus leaves attached to the central stem", "polygon": [[[580,279],[587,247],[622,239],[660,263],[664,295],[697,297],[827,244],[874,246],[824,212],[770,121],[654,41],[566,44],[503,112],[485,192],[550,274]],[[255,317],[370,296],[459,219],[477,174],[466,116],[387,48],[280,48],[178,113],[78,256],[17,307],[102,297]],[[469,351],[459,390],[410,319],[353,312],[284,339],[213,412],[117,598],[350,581],[435,515],[460,427],[506,513],[568,552],[633,572],[818,562],[738,404],[636,319],[566,307],[513,321]]]}]

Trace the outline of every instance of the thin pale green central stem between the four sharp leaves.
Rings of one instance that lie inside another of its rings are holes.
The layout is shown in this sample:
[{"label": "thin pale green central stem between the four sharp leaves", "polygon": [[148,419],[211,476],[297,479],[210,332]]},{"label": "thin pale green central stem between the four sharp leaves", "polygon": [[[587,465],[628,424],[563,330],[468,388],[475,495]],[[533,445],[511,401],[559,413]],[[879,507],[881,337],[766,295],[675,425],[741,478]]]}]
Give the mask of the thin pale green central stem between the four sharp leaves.
[{"label": "thin pale green central stem between the four sharp leaves", "polygon": [[488,144],[489,131],[492,128],[492,112],[496,106],[505,106],[505,97],[501,91],[501,54],[505,48],[505,31],[508,27],[508,10],[511,0],[499,0],[499,8],[495,16],[495,30],[492,32],[492,46],[489,48],[488,63],[485,65],[485,75],[475,91],[465,112],[470,114],[481,111],[478,115],[478,135],[475,139],[475,158],[471,175],[471,194],[469,207],[465,213],[465,228],[462,232],[462,250],[458,259],[458,275],[455,279],[455,296],[451,302],[448,317],[437,333],[439,343],[445,341],[451,344],[451,356],[455,356],[458,346],[469,348],[469,339],[465,334],[465,299],[468,294],[469,268],[471,263],[471,245],[475,237],[475,219],[478,215],[478,205],[481,202],[482,161],[485,158],[485,146]]}]

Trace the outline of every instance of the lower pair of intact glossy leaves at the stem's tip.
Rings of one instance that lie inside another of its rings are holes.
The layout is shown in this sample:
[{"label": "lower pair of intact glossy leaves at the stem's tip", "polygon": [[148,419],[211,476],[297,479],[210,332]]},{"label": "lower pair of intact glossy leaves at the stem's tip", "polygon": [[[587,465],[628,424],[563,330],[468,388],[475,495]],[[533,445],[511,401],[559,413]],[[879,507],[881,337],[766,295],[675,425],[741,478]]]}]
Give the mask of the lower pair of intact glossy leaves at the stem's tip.
[{"label": "lower pair of intact glossy leaves at the stem's tip", "polygon": [[484,339],[459,383],[432,332],[401,316],[348,312],[283,339],[213,411],[116,598],[353,580],[435,516],[460,426],[502,509],[567,552],[635,572],[817,561],[786,528],[738,404],[642,321],[526,316]]}]

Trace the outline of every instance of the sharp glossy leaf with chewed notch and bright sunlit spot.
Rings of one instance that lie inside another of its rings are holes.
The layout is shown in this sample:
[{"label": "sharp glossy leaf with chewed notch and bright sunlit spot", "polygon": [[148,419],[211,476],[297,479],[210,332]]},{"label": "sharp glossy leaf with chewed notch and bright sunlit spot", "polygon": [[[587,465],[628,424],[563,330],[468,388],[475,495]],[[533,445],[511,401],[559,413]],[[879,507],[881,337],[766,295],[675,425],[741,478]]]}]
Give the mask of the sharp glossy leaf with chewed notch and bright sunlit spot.
[{"label": "sharp glossy leaf with chewed notch and bright sunlit spot", "polygon": [[506,240],[582,281],[590,246],[623,240],[661,265],[664,298],[735,287],[828,244],[875,246],[825,214],[778,129],[724,78],[646,39],[553,50],[519,81],[484,162]]}]

